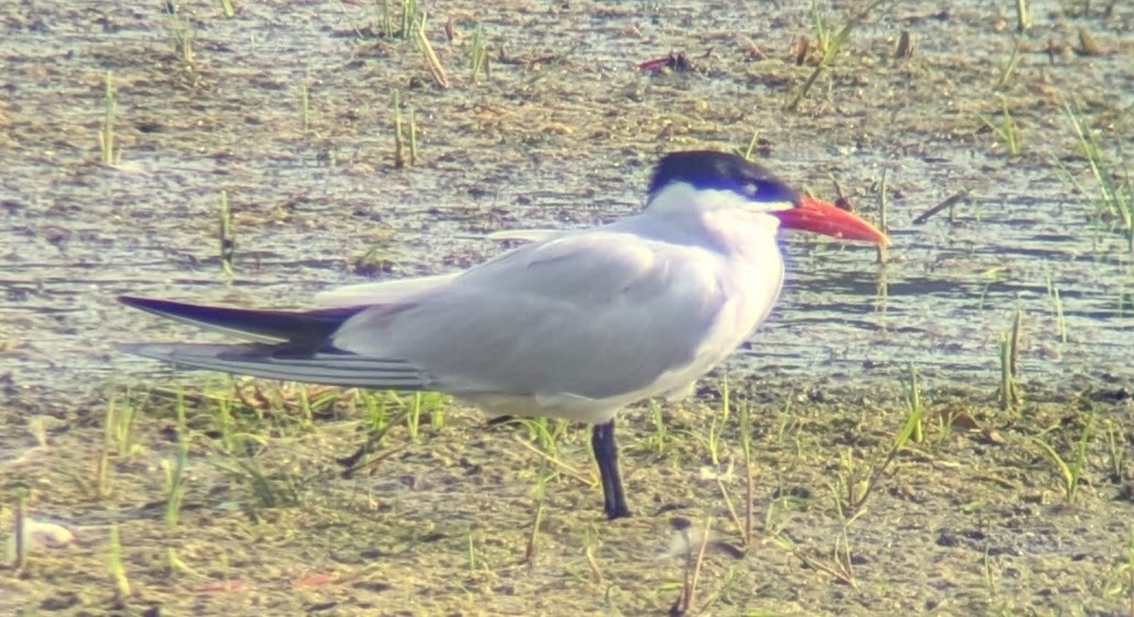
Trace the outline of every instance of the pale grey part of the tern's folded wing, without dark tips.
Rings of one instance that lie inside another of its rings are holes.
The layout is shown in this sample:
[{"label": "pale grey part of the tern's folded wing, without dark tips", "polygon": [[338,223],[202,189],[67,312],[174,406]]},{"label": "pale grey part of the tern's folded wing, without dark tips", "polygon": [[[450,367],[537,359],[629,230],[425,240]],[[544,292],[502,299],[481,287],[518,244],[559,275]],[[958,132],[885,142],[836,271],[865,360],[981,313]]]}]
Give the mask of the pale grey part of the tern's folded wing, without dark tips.
[{"label": "pale grey part of the tern's folded wing, without dark tips", "polygon": [[458,395],[624,395],[702,353],[723,306],[723,267],[695,246],[569,235],[474,268],[411,306],[364,310],[331,343],[405,361]]}]

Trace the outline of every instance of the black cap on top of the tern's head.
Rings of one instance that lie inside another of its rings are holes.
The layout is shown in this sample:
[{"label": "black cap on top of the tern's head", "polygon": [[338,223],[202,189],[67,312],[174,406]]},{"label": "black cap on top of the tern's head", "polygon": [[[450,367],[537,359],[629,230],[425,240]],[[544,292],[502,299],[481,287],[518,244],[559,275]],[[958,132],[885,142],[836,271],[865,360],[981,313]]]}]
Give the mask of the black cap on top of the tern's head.
[{"label": "black cap on top of the tern's head", "polygon": [[784,184],[763,167],[743,157],[713,150],[671,152],[662,157],[650,180],[650,195],[674,183],[695,188],[733,191],[752,201],[792,202],[799,192]]}]

